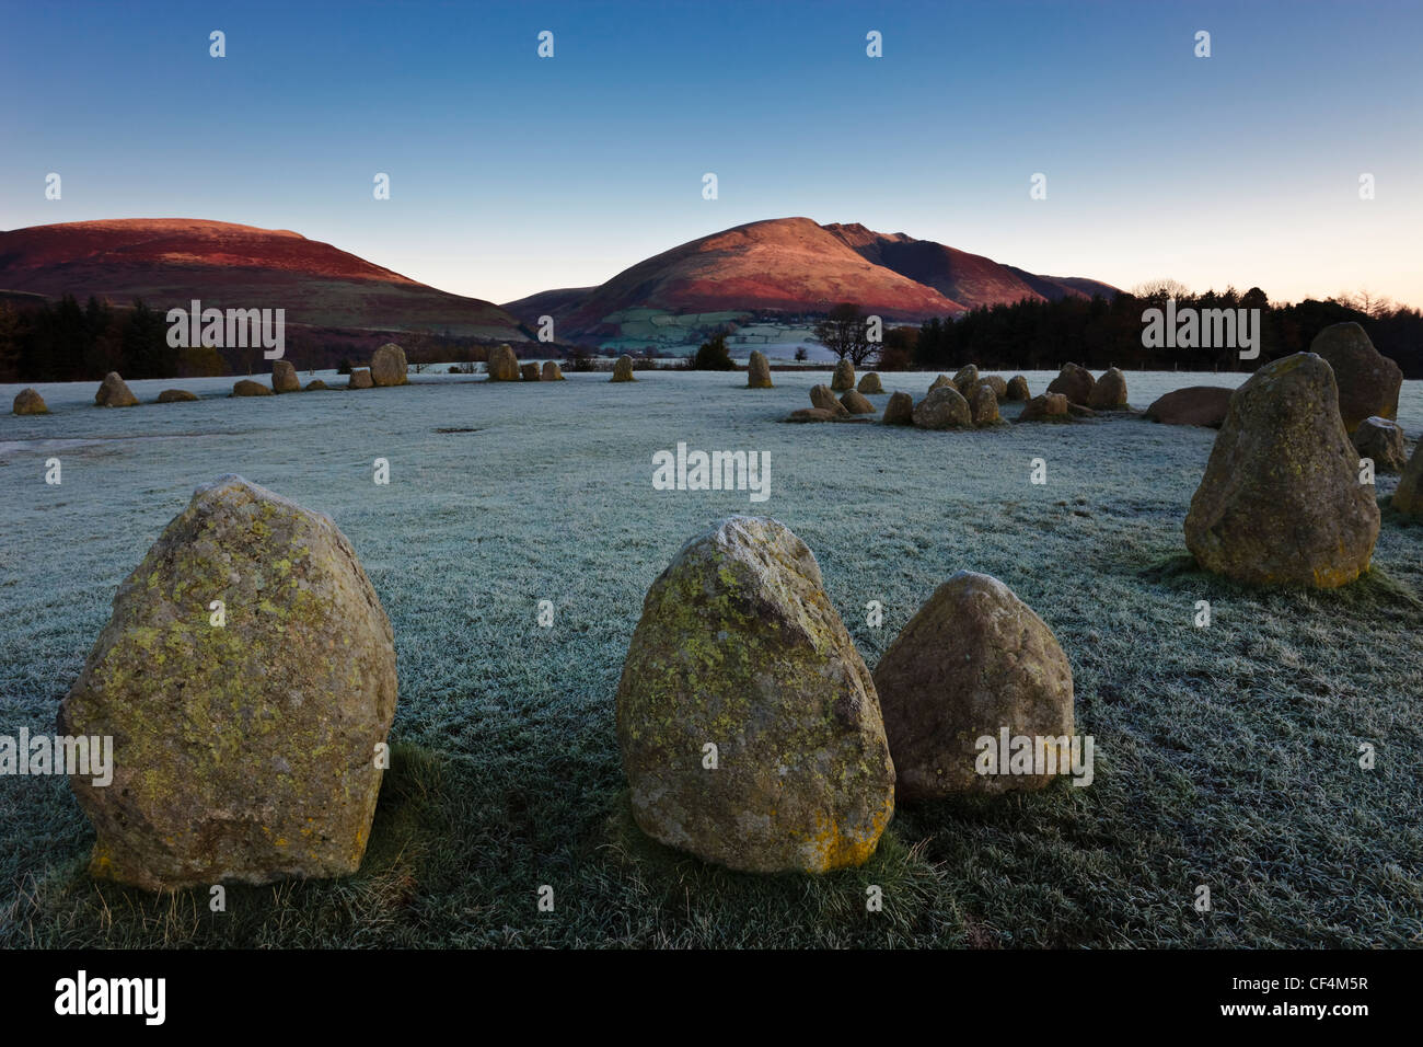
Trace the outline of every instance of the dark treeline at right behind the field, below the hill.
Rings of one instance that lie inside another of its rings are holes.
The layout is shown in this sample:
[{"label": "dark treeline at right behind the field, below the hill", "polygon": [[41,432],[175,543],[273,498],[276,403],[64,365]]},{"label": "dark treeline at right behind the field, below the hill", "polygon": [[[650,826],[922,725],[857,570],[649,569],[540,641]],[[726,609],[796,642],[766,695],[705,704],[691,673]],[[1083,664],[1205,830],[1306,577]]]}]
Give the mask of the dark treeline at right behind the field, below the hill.
[{"label": "dark treeline at right behind the field, below the hill", "polygon": [[1265,292],[1244,295],[1175,295],[1177,313],[1195,309],[1259,309],[1259,358],[1239,359],[1239,349],[1147,348],[1141,343],[1147,309],[1164,308],[1164,296],[1114,299],[1063,298],[1057,302],[1022,301],[975,309],[958,321],[929,321],[918,330],[899,328],[885,339],[891,359],[914,366],[946,369],[963,363],[980,368],[1056,370],[1063,363],[1090,369],[1144,368],[1148,370],[1255,370],[1262,363],[1309,349],[1323,328],[1356,321],[1406,377],[1423,377],[1423,313],[1403,306],[1375,306],[1369,312],[1348,302],[1306,299],[1271,305]]}]

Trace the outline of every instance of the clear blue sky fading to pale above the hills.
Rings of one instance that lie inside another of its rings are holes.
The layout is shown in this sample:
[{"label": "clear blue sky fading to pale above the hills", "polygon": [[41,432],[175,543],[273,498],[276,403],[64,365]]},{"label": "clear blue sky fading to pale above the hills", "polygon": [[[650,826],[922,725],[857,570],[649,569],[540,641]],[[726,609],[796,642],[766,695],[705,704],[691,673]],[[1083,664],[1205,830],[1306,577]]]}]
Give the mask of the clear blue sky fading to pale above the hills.
[{"label": "clear blue sky fading to pale above the hills", "polygon": [[504,302],[805,215],[1126,288],[1423,305],[1420,3],[3,7],[0,228],[287,228]]}]

